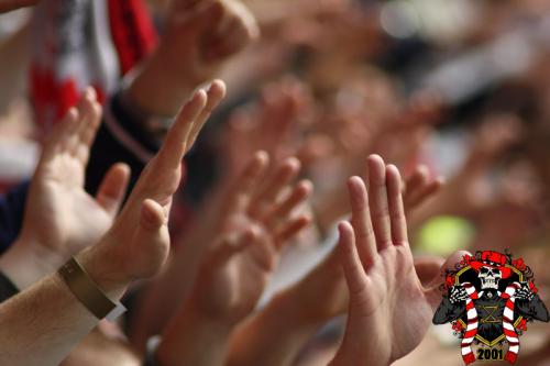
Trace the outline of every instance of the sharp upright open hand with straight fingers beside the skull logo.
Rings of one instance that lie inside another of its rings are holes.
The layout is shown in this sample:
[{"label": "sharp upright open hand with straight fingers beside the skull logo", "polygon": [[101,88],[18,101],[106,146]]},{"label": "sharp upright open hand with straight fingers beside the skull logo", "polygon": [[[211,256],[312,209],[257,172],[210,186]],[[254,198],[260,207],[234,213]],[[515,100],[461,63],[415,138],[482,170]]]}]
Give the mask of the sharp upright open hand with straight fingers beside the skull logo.
[{"label": "sharp upright open hand with straight fingers beside the skull logo", "polygon": [[350,303],[332,365],[389,365],[405,356],[424,339],[440,298],[437,286],[425,289],[415,270],[399,171],[372,155],[367,177],[366,184],[350,178],[350,201],[358,214],[339,225]]}]

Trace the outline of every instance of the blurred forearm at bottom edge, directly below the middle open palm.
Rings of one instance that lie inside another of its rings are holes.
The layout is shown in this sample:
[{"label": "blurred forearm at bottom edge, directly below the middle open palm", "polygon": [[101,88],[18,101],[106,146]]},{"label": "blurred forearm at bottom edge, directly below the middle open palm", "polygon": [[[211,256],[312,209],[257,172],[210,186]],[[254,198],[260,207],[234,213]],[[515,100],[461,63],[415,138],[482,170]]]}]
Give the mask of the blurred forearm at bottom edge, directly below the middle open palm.
[{"label": "blurred forearm at bottom edge, directly below the middle open palm", "polygon": [[223,365],[232,328],[185,307],[168,324],[156,352],[162,366]]}]

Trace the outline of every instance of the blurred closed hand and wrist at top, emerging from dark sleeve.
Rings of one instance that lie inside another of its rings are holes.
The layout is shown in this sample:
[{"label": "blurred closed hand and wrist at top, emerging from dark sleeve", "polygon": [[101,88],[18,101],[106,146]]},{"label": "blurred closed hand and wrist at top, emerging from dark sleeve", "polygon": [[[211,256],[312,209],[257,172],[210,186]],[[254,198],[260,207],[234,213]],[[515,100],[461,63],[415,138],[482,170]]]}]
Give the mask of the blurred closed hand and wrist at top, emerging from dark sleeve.
[{"label": "blurred closed hand and wrist at top, emerging from dark sleeve", "polygon": [[254,16],[240,1],[172,1],[158,47],[134,70],[127,96],[150,113],[175,115],[182,99],[258,34]]}]

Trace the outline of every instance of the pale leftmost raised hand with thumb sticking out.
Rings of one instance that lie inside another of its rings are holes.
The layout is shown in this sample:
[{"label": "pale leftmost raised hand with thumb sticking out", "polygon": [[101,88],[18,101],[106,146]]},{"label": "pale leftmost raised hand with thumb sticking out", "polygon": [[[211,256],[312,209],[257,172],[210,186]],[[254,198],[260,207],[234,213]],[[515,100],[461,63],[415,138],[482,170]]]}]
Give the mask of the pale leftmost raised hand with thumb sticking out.
[{"label": "pale leftmost raised hand with thumb sticking out", "polygon": [[[42,277],[18,273],[18,259],[55,270],[70,255],[95,244],[111,226],[125,193],[130,168],[117,164],[107,173],[96,197],[84,189],[90,146],[100,124],[101,107],[88,88],[44,143],[31,181],[23,228],[2,258],[2,269],[24,288]],[[13,270],[12,270],[13,269]],[[22,276],[20,276],[22,275]]]}]

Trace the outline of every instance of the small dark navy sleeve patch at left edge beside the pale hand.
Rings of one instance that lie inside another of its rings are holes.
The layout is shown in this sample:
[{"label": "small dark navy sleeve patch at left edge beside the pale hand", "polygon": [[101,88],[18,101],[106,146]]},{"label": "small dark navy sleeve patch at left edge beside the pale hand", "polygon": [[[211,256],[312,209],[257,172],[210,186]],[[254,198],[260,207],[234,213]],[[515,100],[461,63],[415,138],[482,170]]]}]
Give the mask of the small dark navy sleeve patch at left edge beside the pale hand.
[{"label": "small dark navy sleeve patch at left edge beside the pale hand", "polygon": [[21,231],[29,185],[25,181],[0,197],[0,255],[10,247]]}]

